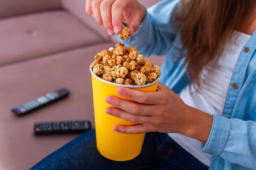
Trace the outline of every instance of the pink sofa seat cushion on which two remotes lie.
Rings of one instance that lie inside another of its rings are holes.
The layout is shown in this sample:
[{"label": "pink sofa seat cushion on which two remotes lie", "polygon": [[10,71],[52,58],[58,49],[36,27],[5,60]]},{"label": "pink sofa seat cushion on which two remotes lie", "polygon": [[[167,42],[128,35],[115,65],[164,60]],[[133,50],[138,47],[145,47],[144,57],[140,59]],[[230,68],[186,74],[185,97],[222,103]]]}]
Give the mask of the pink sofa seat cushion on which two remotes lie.
[{"label": "pink sofa seat cushion on which two remotes lie", "polygon": [[[77,136],[33,136],[34,122],[87,119],[94,127],[89,67],[95,54],[111,46],[94,45],[0,67],[0,170],[29,169]],[[22,117],[11,112],[62,87],[70,90],[67,99]]]}]

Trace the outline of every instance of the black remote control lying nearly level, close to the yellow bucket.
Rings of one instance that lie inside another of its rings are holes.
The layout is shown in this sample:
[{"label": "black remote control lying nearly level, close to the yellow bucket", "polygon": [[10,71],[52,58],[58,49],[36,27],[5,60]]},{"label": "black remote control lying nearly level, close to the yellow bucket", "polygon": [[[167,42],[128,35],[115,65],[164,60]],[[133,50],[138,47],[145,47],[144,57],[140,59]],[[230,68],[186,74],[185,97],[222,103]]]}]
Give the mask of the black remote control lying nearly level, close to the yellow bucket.
[{"label": "black remote control lying nearly level, close to the yellow bucket", "polygon": [[91,124],[87,120],[70,120],[56,122],[36,122],[35,135],[48,135],[58,133],[84,133],[91,130]]}]

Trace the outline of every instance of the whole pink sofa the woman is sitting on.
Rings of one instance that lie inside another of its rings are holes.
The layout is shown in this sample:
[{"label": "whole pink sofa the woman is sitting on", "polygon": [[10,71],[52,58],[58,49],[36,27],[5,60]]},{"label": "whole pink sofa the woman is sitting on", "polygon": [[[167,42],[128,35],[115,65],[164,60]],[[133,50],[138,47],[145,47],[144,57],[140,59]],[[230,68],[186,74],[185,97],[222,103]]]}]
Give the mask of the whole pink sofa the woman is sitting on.
[{"label": "whole pink sofa the woman is sitting on", "polygon": [[[77,136],[33,136],[34,122],[88,119],[94,127],[89,65],[116,42],[85,13],[85,0],[0,4],[0,170],[25,170]],[[160,65],[164,57],[151,59]],[[22,117],[11,112],[61,87],[67,99]]]}]

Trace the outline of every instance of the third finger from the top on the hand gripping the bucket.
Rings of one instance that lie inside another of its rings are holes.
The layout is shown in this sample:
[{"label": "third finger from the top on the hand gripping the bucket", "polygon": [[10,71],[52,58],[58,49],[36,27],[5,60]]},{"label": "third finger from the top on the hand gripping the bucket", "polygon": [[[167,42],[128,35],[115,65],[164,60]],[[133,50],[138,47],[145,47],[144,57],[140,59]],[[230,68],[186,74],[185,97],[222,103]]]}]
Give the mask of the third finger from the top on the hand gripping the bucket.
[{"label": "third finger from the top on the hand gripping the bucket", "polygon": [[151,122],[151,116],[135,115],[118,108],[108,107],[106,108],[106,113],[108,113],[109,115],[118,117],[120,119],[124,119],[128,122],[136,123],[136,124],[141,124],[141,123],[149,124]]}]

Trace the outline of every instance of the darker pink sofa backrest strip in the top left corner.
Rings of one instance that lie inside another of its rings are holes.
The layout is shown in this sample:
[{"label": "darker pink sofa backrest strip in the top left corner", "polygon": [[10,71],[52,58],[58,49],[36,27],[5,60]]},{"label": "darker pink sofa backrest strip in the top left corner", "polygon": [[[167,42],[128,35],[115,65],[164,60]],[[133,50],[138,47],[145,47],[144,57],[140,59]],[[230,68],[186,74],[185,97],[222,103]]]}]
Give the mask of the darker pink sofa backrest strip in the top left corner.
[{"label": "darker pink sofa backrest strip in the top left corner", "polygon": [[61,8],[61,0],[0,0],[0,18]]}]

